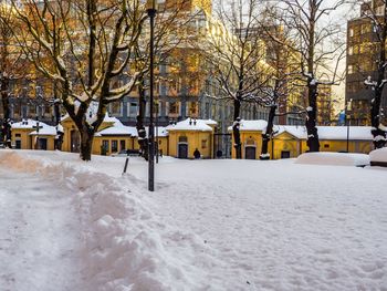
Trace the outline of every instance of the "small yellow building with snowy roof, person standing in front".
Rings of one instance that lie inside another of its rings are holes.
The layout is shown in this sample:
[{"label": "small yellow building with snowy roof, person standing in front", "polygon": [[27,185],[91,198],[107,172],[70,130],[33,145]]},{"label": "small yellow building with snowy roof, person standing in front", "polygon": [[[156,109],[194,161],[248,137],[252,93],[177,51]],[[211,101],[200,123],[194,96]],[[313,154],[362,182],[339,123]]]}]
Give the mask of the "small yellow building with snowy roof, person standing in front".
[{"label": "small yellow building with snowy roof, person standing in front", "polygon": [[169,155],[178,158],[195,158],[199,150],[201,158],[213,157],[215,121],[191,119],[179,122],[167,127],[169,133]]}]

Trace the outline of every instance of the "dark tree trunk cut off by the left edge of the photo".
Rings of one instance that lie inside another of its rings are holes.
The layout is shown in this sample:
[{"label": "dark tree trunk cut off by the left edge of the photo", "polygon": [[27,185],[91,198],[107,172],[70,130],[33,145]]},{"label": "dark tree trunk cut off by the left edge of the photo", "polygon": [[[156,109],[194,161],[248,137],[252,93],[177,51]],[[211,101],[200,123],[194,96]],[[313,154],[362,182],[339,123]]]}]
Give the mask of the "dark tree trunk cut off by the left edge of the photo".
[{"label": "dark tree trunk cut off by the left edge of the photo", "polygon": [[2,98],[2,112],[3,112],[3,122],[1,128],[2,142],[6,147],[11,148],[11,137],[12,137],[12,125],[11,125],[11,112],[10,112],[10,103],[9,103],[9,80],[7,77],[2,77],[1,80],[1,98]]}]

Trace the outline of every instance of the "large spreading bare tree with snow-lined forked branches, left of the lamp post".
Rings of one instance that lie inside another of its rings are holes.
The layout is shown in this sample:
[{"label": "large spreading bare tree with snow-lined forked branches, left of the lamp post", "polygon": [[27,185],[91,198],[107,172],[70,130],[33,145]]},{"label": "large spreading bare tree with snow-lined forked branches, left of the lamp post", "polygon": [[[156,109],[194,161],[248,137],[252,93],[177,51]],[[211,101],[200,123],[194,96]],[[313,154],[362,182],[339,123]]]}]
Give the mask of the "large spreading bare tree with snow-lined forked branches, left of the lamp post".
[{"label": "large spreading bare tree with snow-lined forked branches, left of the lamp post", "polygon": [[18,40],[55,83],[81,134],[81,158],[90,160],[107,105],[128,95],[147,70],[147,60],[133,69],[146,7],[139,0],[12,0],[12,6],[27,27]]}]

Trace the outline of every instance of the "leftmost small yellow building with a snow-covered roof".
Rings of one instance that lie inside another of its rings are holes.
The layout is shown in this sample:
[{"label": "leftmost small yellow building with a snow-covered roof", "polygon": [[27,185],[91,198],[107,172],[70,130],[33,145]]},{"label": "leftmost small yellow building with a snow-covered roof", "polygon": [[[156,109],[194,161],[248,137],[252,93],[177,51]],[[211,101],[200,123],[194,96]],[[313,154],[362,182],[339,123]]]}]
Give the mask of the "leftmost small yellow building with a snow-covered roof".
[{"label": "leftmost small yellow building with a snow-covered roof", "polygon": [[23,119],[12,124],[12,145],[18,149],[54,149],[56,129],[45,123]]}]

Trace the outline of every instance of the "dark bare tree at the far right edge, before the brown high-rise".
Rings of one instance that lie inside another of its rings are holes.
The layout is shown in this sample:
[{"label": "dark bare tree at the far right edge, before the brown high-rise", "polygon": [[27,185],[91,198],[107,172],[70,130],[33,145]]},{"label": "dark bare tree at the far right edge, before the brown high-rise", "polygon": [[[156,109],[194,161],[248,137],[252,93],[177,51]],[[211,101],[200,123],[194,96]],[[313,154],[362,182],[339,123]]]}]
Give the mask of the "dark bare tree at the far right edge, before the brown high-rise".
[{"label": "dark bare tree at the far right edge, before the brown high-rise", "polygon": [[364,13],[373,24],[375,40],[375,53],[377,55],[377,72],[375,80],[368,76],[365,84],[373,90],[373,100],[370,106],[370,123],[372,123],[372,134],[374,136],[374,147],[380,148],[386,145],[387,142],[387,129],[380,123],[380,110],[381,100],[385,85],[387,83],[386,77],[386,41],[387,41],[387,2],[386,0],[378,1],[362,1],[366,10]]}]

